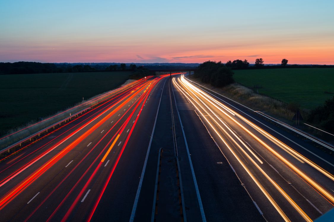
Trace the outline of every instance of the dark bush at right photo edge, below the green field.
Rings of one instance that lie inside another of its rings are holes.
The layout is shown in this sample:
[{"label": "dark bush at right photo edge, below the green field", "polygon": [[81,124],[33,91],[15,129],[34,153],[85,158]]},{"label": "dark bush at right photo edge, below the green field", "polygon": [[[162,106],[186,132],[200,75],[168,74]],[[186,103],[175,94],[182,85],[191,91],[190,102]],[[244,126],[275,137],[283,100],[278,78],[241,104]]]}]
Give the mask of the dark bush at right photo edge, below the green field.
[{"label": "dark bush at right photo edge, below the green field", "polygon": [[324,105],[313,109],[309,115],[308,122],[334,133],[334,98],[326,100]]}]

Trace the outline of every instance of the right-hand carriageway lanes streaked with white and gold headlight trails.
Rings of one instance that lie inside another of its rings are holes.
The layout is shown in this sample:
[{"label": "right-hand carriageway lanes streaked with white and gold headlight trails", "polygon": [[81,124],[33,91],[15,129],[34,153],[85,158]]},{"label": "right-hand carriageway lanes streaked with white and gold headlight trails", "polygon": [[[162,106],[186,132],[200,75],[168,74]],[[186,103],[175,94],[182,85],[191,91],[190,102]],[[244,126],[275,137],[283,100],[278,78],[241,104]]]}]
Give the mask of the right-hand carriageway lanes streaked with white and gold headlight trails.
[{"label": "right-hand carriageway lanes streaked with white and gold headlight trails", "polygon": [[173,83],[183,95],[179,100],[195,110],[266,220],[312,221],[333,208],[333,156],[293,143],[292,135],[284,137],[184,75]]}]

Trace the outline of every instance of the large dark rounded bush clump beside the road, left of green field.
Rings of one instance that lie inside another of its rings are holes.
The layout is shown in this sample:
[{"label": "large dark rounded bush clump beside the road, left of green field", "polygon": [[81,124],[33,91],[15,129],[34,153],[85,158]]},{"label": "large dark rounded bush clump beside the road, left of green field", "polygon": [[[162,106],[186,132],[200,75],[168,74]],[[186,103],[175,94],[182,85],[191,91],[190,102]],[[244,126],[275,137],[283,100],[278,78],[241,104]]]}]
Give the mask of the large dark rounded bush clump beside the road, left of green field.
[{"label": "large dark rounded bush clump beside the road, left of green field", "polygon": [[234,82],[232,70],[221,62],[206,61],[198,66],[194,73],[195,78],[210,83],[215,87],[226,86]]}]

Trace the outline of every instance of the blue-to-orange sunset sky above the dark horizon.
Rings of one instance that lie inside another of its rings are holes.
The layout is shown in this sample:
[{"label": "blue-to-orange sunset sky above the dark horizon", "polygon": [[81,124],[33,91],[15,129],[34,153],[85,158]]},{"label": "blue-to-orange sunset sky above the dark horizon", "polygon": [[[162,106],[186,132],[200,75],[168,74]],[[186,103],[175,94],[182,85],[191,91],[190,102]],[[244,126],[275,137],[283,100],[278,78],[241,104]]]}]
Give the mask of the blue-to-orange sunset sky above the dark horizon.
[{"label": "blue-to-orange sunset sky above the dark horizon", "polygon": [[1,1],[0,62],[334,64],[334,1]]}]

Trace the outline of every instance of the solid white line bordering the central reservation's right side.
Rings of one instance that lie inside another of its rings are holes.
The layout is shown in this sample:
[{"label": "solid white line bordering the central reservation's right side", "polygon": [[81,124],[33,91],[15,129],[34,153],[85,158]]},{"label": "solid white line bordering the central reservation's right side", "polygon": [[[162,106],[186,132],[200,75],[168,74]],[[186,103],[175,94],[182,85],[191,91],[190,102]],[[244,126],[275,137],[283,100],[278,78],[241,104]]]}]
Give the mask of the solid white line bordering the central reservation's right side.
[{"label": "solid white line bordering the central reservation's right side", "polygon": [[201,196],[199,194],[199,189],[198,189],[198,185],[197,185],[197,180],[196,180],[196,176],[195,176],[195,171],[194,168],[192,166],[192,162],[191,162],[191,158],[190,158],[190,153],[189,153],[189,148],[188,148],[188,143],[187,143],[187,139],[186,139],[186,135],[184,133],[183,130],[183,124],[181,121],[181,117],[180,117],[180,113],[179,113],[179,109],[177,108],[177,104],[176,104],[176,98],[175,98],[175,94],[174,94],[174,90],[173,90],[173,84],[172,84],[172,91],[173,91],[173,95],[174,95],[174,101],[175,101],[175,106],[176,106],[176,112],[177,115],[179,117],[179,121],[180,121],[180,125],[181,125],[181,129],[182,129],[182,134],[183,134],[183,139],[184,139],[184,143],[186,145],[186,150],[187,150],[187,154],[188,154],[188,160],[189,160],[189,165],[190,165],[190,169],[191,169],[191,174],[192,174],[192,178],[194,180],[194,186],[195,186],[195,190],[196,190],[196,195],[197,195],[197,200],[198,200],[198,205],[199,205],[199,210],[201,212],[201,216],[202,216],[202,221],[206,222],[206,218],[205,218],[205,214],[204,214],[204,208],[203,208],[203,204],[202,204],[202,199]]}]

